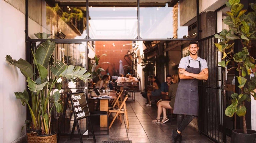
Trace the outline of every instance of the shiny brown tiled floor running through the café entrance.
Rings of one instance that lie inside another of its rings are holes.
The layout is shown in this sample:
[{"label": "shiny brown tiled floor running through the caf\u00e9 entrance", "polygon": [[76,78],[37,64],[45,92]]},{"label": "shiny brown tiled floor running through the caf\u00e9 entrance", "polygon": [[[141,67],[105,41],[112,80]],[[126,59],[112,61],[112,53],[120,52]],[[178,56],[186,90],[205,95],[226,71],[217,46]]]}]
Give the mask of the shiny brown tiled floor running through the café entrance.
[{"label": "shiny brown tiled floor running through the caf\u00e9 entrance", "polygon": [[[108,135],[96,135],[97,143],[113,140],[131,140],[133,143],[171,143],[171,130],[177,128],[176,119],[164,124],[154,123],[152,119],[157,117],[157,107],[145,106],[145,99],[140,93],[136,93],[135,101],[126,102],[129,118],[129,129],[126,123],[115,120]],[[111,121],[112,118],[109,119]],[[188,126],[182,133],[184,143],[212,143],[207,137],[200,135],[197,130]],[[72,140],[61,136],[61,143],[79,143],[79,137]],[[92,143],[92,136],[83,136],[84,143]]]}]

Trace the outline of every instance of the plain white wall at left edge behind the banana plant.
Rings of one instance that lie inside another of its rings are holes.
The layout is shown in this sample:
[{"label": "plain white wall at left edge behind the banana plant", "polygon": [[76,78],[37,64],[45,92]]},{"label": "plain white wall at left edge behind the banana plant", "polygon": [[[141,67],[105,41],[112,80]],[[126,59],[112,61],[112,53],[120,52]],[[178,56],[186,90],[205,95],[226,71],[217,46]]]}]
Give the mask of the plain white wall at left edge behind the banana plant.
[{"label": "plain white wall at left edge behind the banana plant", "polygon": [[13,59],[25,59],[25,15],[0,0],[0,20],[0,143],[11,143],[25,136],[21,127],[26,109],[14,92],[23,92],[26,85],[24,76],[5,62],[5,56],[10,54]]}]

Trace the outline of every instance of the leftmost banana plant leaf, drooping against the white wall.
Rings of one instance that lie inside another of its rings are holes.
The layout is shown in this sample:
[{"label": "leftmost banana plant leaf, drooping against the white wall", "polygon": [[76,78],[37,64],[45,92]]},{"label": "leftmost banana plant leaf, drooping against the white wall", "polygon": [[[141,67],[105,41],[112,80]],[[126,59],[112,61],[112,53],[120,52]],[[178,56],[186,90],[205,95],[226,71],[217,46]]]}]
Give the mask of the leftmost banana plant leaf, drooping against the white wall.
[{"label": "leftmost banana plant leaf, drooping against the white wall", "polygon": [[33,77],[33,75],[34,75],[33,67],[29,62],[23,60],[22,58],[20,58],[18,61],[16,61],[15,59],[12,59],[12,57],[10,55],[6,55],[5,59],[8,64],[12,64],[12,65],[16,66],[17,68],[19,68],[21,73],[27,79]]}]

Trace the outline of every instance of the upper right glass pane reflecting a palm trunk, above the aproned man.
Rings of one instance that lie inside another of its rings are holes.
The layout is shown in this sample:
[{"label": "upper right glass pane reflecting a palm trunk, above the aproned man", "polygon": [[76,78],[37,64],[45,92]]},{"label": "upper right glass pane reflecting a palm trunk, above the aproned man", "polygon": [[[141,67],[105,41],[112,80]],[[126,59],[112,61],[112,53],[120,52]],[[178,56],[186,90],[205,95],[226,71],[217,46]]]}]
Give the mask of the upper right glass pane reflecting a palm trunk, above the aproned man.
[{"label": "upper right glass pane reflecting a palm trunk, above the aproned man", "polygon": [[[189,3],[196,6],[196,0]],[[140,5],[143,5],[143,2]],[[168,7],[168,4],[162,7],[140,6],[141,38],[195,38],[196,17],[187,13],[196,16],[196,7],[191,10],[191,7],[186,5],[186,1],[182,1],[174,7]]]}]

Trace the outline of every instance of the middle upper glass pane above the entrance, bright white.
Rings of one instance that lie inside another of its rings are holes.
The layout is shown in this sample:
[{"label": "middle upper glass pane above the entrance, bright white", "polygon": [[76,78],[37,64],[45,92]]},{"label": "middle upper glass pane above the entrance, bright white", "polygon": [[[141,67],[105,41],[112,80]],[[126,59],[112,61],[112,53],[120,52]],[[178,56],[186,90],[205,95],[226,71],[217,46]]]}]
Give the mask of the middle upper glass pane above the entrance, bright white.
[{"label": "middle upper glass pane above the entrance, bright white", "polygon": [[[93,2],[93,1],[92,1]],[[137,38],[137,1],[131,7],[93,7],[89,1],[89,37],[92,39]]]}]

